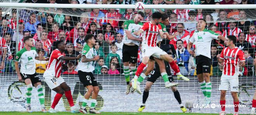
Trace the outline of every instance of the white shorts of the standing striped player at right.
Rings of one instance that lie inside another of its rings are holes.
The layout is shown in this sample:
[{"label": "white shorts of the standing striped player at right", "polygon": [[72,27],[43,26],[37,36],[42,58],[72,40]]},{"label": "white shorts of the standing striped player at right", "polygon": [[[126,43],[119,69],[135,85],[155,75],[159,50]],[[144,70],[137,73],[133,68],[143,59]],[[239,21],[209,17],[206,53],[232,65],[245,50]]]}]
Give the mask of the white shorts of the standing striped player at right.
[{"label": "white shorts of the standing striped player at right", "polygon": [[230,86],[230,91],[238,92],[238,90],[239,90],[238,76],[222,75],[221,79],[220,79],[219,90],[227,91],[228,86]]}]

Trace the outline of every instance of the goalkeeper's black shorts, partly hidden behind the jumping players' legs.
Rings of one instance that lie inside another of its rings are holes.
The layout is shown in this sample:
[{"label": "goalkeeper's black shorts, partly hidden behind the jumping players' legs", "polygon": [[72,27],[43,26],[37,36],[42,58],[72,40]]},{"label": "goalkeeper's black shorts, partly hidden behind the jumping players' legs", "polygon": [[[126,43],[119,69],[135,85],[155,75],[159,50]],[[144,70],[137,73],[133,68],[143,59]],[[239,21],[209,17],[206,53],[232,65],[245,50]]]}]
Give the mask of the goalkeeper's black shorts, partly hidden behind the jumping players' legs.
[{"label": "goalkeeper's black shorts, partly hidden behind the jumping players' legs", "polygon": [[[170,65],[166,64],[166,73],[168,75],[168,79],[170,82],[174,82],[174,79],[173,79],[173,74],[171,73],[170,71]],[[159,70],[159,66],[158,64],[155,64],[155,67],[154,67],[154,70],[150,72],[150,75],[149,77],[147,78],[147,81],[150,81],[150,82],[153,82],[155,83],[156,79],[159,78],[161,76],[161,73],[160,73],[160,70]]]}]

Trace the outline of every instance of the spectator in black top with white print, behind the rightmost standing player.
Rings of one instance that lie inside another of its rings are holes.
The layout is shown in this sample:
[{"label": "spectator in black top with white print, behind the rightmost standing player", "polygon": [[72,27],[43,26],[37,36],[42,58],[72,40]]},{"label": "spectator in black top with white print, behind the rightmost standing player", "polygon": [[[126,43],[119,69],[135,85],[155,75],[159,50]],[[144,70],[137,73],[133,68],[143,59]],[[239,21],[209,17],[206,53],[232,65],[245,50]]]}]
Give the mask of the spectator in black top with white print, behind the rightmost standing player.
[{"label": "spectator in black top with white print, behind the rightmost standing player", "polygon": [[239,49],[242,51],[248,50],[249,53],[253,52],[251,44],[245,40],[246,34],[244,32],[240,32],[238,36],[239,36],[239,39],[236,46],[239,47]]}]

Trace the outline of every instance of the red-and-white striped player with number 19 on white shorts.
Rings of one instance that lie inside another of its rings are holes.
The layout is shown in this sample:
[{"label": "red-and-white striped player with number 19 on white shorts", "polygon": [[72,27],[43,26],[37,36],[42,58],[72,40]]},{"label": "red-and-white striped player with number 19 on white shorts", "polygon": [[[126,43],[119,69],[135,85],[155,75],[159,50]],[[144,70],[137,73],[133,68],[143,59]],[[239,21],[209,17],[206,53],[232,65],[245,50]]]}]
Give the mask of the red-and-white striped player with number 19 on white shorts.
[{"label": "red-and-white striped player with number 19 on white shorts", "polygon": [[55,106],[59,103],[62,95],[65,93],[65,96],[71,107],[71,113],[78,113],[79,108],[74,106],[73,98],[71,95],[70,87],[66,84],[64,79],[61,77],[62,66],[67,68],[68,65],[65,65],[65,61],[80,59],[81,55],[77,57],[67,57],[65,56],[64,51],[66,50],[66,45],[64,41],[57,41],[55,43],[57,49],[52,51],[52,54],[49,59],[49,64],[47,65],[46,71],[43,74],[45,82],[51,90],[54,90],[57,94],[54,96],[54,101],[52,102],[51,108],[48,110],[50,113],[56,113],[54,110]]}]

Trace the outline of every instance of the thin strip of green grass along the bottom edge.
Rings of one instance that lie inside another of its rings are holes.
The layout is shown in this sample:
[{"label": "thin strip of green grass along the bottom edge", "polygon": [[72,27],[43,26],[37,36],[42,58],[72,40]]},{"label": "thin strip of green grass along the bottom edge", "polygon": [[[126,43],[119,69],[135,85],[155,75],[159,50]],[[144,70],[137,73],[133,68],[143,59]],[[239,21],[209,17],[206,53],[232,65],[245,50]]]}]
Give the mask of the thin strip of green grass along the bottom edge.
[{"label": "thin strip of green grass along the bottom edge", "polygon": [[[57,112],[57,113],[0,112],[0,115],[82,115],[82,113],[70,113],[70,112]],[[213,114],[213,113],[102,112],[100,115],[219,115],[219,114]],[[227,114],[227,115],[233,115],[233,114]],[[247,115],[247,114],[239,114],[239,115]]]}]

